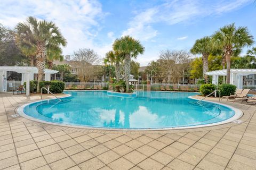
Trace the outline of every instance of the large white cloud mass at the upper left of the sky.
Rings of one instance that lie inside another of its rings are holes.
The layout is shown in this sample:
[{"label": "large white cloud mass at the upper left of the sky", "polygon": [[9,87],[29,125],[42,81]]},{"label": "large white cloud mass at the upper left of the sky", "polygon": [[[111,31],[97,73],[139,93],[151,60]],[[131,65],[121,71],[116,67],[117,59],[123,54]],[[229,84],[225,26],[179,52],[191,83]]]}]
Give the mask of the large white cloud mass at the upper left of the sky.
[{"label": "large white cloud mass at the upper left of the sky", "polygon": [[[2,1],[0,3],[0,23],[14,28],[24,22],[27,16],[53,21],[67,39],[63,54],[71,54],[78,48],[93,48],[94,39],[101,29],[99,22],[105,17],[98,1]],[[104,45],[102,45],[104,46]],[[102,55],[102,54],[100,54]]]}]

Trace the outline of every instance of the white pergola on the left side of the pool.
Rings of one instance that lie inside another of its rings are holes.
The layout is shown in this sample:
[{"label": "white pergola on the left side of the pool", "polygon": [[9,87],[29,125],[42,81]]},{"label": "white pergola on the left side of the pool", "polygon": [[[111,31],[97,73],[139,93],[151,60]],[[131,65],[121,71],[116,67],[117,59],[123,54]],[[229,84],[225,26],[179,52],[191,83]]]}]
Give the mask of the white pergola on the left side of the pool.
[{"label": "white pergola on the left side of the pool", "polygon": [[[26,82],[26,95],[29,96],[29,81],[34,80],[34,74],[38,73],[37,67],[30,66],[0,66],[0,92],[7,90],[7,71],[21,73],[21,84]],[[57,70],[45,69],[45,81],[51,81],[51,74],[58,73]]]}]

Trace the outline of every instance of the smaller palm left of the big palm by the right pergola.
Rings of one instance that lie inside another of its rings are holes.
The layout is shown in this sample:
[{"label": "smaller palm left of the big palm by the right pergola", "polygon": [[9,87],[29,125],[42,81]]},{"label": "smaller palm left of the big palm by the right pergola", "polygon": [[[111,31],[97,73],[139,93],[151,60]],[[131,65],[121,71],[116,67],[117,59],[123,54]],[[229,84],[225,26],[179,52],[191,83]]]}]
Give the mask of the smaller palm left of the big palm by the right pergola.
[{"label": "smaller palm left of the big palm by the right pergola", "polygon": [[202,54],[203,57],[203,75],[205,82],[208,81],[208,77],[205,72],[208,71],[208,57],[212,52],[211,49],[211,38],[203,37],[201,39],[197,39],[194,46],[190,49],[192,54]]}]

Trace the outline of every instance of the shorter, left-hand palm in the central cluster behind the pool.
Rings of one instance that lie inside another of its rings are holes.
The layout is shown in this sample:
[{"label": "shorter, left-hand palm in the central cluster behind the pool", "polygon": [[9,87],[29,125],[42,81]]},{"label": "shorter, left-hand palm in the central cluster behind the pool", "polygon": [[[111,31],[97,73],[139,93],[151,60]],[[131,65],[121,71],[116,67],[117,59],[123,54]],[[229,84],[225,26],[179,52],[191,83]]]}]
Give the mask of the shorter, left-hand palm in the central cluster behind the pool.
[{"label": "shorter, left-hand palm in the central cluster behind the pool", "polygon": [[106,57],[104,58],[104,62],[109,63],[109,64],[114,64],[115,65],[115,72],[116,72],[116,80],[119,81],[121,74],[121,67],[120,64],[123,62],[124,56],[122,53],[115,52],[113,50],[109,51],[106,53]]}]

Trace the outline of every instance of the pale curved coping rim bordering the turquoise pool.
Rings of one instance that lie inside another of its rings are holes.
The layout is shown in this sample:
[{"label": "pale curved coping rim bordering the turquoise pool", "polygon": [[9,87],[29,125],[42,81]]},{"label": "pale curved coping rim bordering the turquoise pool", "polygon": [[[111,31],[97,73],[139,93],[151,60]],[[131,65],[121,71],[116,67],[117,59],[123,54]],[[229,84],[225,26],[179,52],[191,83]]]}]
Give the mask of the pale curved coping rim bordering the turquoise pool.
[{"label": "pale curved coping rim bordering the turquoise pool", "polygon": [[[66,90],[69,91],[69,90]],[[77,91],[81,91],[81,90],[77,90]],[[82,91],[99,91],[99,90],[82,90]],[[106,91],[106,90],[101,90],[101,91]],[[66,94],[67,96],[63,96],[60,98],[67,98],[70,97],[71,95]],[[195,95],[197,96],[197,95]],[[190,99],[194,99],[194,100],[200,100],[200,99],[196,99],[194,98],[195,96],[189,96],[188,98]],[[37,101],[33,101],[27,104],[24,104],[22,106],[17,107],[17,109],[15,109],[15,112],[17,114],[19,114],[20,116],[27,118],[28,120],[34,121],[34,122],[39,122],[39,123],[44,123],[44,124],[49,124],[49,125],[54,125],[54,126],[62,126],[62,127],[67,127],[67,128],[77,128],[77,129],[90,129],[90,130],[107,130],[107,131],[165,131],[165,130],[186,130],[186,129],[196,129],[196,128],[207,128],[207,127],[211,127],[211,126],[218,126],[218,125],[223,125],[223,124],[227,124],[227,123],[231,123],[234,122],[236,120],[238,120],[239,118],[241,118],[243,116],[243,112],[238,109],[235,108],[233,106],[230,105],[226,105],[226,104],[221,104],[215,101],[209,101],[209,100],[204,100],[206,102],[209,103],[213,103],[213,104],[218,104],[218,105],[222,105],[225,107],[228,107],[230,109],[233,109],[233,111],[235,112],[235,115],[228,118],[227,120],[221,121],[221,122],[216,122],[216,123],[210,123],[210,124],[202,124],[202,125],[194,125],[194,126],[181,126],[181,127],[174,127],[174,128],[105,128],[105,127],[93,127],[93,126],[83,126],[83,125],[71,125],[71,124],[65,124],[65,123],[53,123],[53,122],[47,122],[47,121],[43,121],[43,120],[39,120],[37,118],[28,116],[23,110],[26,106],[33,104],[33,103],[38,103],[40,101],[45,101],[45,100],[53,100],[55,98],[51,98],[51,99],[44,99],[44,100],[37,100]]]}]

